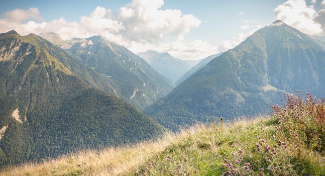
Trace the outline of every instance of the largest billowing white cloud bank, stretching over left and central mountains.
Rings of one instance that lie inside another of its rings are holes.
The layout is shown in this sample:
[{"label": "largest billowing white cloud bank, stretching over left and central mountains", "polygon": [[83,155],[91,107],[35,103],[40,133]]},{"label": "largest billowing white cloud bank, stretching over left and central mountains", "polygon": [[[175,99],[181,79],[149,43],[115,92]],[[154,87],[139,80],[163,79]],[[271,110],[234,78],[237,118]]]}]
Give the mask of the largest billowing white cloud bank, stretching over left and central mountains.
[{"label": "largest billowing white cloud bank, stretching over left and central mountains", "polygon": [[239,33],[220,46],[202,40],[184,42],[184,36],[201,21],[193,15],[182,14],[180,10],[161,10],[163,5],[162,0],[133,0],[116,12],[97,7],[90,15],[80,17],[79,22],[69,22],[63,17],[50,22],[36,22],[41,19],[37,8],[22,10],[33,11],[34,15],[15,19],[12,17],[14,10],[7,13],[8,18],[0,19],[0,32],[12,29],[21,35],[55,32],[64,40],[101,35],[135,53],[153,49],[192,60],[233,48],[252,34]]}]

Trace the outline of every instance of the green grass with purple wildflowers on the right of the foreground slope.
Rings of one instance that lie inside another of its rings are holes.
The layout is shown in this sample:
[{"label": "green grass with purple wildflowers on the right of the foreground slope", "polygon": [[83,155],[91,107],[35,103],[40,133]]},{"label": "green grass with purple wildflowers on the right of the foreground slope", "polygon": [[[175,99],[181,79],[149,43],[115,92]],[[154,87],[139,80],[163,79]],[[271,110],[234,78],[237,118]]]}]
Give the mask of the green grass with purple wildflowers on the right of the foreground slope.
[{"label": "green grass with purple wildflowers on the right of the foreground slope", "polygon": [[307,100],[287,97],[269,118],[197,126],[130,175],[325,175],[325,106]]}]

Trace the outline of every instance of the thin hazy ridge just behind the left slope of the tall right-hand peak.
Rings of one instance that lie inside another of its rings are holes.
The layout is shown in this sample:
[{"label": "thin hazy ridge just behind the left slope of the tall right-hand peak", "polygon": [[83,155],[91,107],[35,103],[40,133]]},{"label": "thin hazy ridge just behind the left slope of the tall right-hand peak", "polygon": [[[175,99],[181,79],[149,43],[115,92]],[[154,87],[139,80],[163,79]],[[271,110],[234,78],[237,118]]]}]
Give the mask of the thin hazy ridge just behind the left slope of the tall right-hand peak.
[{"label": "thin hazy ridge just behind the left slope of the tall right-hand peak", "polygon": [[185,74],[183,74],[176,82],[175,84],[178,85],[181,82],[183,82],[185,79],[193,75],[196,71],[200,70],[201,68],[205,67],[207,63],[209,63],[212,59],[214,59],[217,56],[220,56],[223,52],[220,52],[218,54],[210,55],[204,59],[200,59],[199,62],[193,66],[190,70],[188,70]]}]

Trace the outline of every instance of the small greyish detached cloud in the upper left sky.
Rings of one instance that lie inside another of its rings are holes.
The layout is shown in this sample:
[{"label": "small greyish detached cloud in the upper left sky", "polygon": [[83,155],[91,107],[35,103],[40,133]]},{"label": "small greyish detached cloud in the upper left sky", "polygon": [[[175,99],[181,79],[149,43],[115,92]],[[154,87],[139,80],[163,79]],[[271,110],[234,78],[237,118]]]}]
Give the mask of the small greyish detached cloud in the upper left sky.
[{"label": "small greyish detached cloud in the upper left sky", "polygon": [[21,22],[25,20],[43,20],[37,8],[29,8],[28,10],[15,9],[13,11],[6,12],[5,18],[15,22]]}]

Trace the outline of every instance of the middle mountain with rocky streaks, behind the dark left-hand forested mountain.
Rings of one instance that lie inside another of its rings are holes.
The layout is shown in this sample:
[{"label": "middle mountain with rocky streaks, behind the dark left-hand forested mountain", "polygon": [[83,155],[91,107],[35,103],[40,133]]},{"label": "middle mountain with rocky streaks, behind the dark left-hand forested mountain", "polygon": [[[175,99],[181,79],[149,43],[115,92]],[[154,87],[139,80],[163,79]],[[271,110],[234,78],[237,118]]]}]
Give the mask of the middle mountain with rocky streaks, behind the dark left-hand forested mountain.
[{"label": "middle mountain with rocky streaks, behind the dark left-hand forested mountain", "polygon": [[140,109],[168,94],[173,84],[127,48],[100,36],[80,39],[67,50],[115,82],[115,93]]}]

